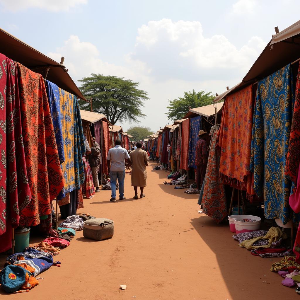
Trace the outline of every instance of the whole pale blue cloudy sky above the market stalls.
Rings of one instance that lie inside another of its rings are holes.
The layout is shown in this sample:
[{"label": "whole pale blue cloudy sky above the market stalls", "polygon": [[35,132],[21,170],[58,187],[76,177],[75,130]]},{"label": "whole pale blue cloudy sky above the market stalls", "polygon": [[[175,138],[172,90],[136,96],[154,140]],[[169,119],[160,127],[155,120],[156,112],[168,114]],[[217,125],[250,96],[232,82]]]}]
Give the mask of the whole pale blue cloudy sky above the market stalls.
[{"label": "whole pale blue cloudy sky above the market stalls", "polygon": [[[241,81],[271,40],[299,19],[298,0],[0,0],[0,27],[69,69],[140,82],[140,123],[172,124],[168,99],[222,93]],[[76,82],[78,86],[79,82]]]}]

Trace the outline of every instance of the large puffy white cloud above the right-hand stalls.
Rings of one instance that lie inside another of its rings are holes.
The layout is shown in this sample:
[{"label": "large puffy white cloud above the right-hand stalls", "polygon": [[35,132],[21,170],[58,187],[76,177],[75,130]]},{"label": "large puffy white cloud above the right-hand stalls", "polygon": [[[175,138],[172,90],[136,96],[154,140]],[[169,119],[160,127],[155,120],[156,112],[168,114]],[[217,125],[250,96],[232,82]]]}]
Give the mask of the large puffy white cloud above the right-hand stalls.
[{"label": "large puffy white cloud above the right-hand stalls", "polygon": [[[132,61],[143,61],[152,76],[162,79],[213,79],[242,77],[265,43],[259,37],[237,48],[224,35],[205,37],[197,21],[150,21],[138,29]],[[232,72],[233,71],[233,72]],[[231,75],[230,75],[231,76]]]}]

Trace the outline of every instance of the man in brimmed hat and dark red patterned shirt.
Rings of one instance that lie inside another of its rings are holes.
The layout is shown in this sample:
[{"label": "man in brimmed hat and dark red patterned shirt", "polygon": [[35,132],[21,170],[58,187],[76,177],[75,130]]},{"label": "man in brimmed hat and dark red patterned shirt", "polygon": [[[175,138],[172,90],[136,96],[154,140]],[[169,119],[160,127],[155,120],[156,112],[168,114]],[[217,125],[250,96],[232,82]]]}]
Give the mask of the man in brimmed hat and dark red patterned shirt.
[{"label": "man in brimmed hat and dark red patterned shirt", "polygon": [[207,143],[203,139],[207,132],[200,130],[196,143],[195,165],[196,165],[196,184],[197,189],[200,190],[204,181],[206,167],[207,167]]}]

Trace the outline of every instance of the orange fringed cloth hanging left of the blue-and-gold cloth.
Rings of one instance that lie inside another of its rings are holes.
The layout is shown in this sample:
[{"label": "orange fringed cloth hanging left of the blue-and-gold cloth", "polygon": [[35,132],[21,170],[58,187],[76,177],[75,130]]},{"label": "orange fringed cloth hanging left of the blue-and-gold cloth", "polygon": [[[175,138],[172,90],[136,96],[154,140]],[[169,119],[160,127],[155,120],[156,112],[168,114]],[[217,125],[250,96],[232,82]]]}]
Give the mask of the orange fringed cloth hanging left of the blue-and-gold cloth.
[{"label": "orange fringed cloth hanging left of the blue-and-gold cloth", "polygon": [[220,176],[226,184],[247,190],[249,199],[255,195],[250,172],[253,104],[252,85],[227,96],[218,132]]}]

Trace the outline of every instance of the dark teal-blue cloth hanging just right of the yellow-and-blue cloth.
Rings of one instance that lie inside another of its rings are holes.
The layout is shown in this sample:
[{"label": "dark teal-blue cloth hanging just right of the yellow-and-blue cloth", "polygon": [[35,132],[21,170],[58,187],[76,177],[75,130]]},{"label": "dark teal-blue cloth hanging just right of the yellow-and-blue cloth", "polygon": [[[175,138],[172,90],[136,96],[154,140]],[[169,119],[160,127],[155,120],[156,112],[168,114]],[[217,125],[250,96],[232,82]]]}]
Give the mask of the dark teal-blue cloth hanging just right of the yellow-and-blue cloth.
[{"label": "dark teal-blue cloth hanging just right of the yellow-and-blue cloth", "polygon": [[76,190],[84,183],[84,167],[82,155],[85,153],[85,137],[82,128],[78,99],[74,96],[74,166]]}]

